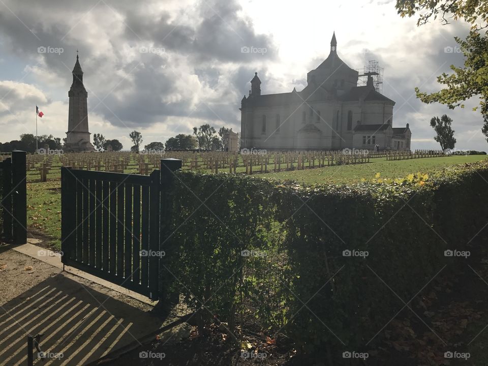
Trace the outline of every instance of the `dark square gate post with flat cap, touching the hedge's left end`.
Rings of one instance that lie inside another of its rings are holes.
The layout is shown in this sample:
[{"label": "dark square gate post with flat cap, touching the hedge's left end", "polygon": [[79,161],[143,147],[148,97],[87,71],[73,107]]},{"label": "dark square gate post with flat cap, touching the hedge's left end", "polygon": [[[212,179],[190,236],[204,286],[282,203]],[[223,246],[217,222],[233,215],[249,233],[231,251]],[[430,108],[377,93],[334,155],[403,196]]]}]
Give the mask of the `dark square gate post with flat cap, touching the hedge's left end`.
[{"label": "dark square gate post with flat cap, touching the hedge's left end", "polygon": [[[168,241],[171,237],[171,223],[172,223],[172,200],[171,200],[171,188],[175,181],[174,172],[181,170],[182,161],[179,159],[162,159],[161,160],[161,233],[160,233],[160,250],[165,251],[165,256],[160,259],[160,272],[159,272],[159,289],[160,289],[160,302],[177,303],[179,300],[179,293],[169,293],[168,287],[174,282],[174,278],[171,273],[168,272],[169,263],[174,260],[171,256],[174,253],[171,247],[171,242]],[[166,268],[165,268],[166,267]]]}]

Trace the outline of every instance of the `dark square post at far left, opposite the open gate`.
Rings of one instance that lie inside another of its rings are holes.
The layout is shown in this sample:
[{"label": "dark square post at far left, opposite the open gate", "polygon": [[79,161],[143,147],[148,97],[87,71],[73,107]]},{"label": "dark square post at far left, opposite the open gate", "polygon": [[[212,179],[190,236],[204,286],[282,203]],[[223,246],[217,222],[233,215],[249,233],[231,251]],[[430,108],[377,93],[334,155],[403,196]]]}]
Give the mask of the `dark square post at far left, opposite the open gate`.
[{"label": "dark square post at far left, opposite the open gate", "polygon": [[27,242],[27,182],[25,151],[12,151],[12,215],[14,244]]}]

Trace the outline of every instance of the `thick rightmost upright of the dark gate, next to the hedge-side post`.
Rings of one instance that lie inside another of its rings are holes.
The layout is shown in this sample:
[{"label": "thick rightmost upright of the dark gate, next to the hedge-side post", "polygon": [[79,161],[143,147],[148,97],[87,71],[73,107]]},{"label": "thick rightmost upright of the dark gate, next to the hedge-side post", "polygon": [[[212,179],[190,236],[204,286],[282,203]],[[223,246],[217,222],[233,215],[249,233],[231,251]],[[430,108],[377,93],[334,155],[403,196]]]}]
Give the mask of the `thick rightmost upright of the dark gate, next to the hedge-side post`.
[{"label": "thick rightmost upright of the dark gate, next to the hedge-side post", "polygon": [[[160,249],[160,170],[150,174],[151,185],[149,190],[149,253],[158,252]],[[159,257],[149,255],[149,298],[157,299],[159,290]]]}]

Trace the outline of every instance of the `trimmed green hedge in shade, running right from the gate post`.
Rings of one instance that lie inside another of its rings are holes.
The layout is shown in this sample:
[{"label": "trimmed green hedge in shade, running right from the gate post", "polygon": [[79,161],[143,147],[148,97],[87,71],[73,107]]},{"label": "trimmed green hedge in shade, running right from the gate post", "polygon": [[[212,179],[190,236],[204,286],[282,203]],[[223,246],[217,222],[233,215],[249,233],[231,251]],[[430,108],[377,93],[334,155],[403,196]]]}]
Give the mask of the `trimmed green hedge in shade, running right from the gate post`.
[{"label": "trimmed green hedge in shade, running right from the gate post", "polygon": [[487,181],[488,162],[351,187],[178,172],[161,278],[204,304],[202,326],[253,315],[306,350],[359,350],[462,263],[444,251],[469,250],[485,225]]}]

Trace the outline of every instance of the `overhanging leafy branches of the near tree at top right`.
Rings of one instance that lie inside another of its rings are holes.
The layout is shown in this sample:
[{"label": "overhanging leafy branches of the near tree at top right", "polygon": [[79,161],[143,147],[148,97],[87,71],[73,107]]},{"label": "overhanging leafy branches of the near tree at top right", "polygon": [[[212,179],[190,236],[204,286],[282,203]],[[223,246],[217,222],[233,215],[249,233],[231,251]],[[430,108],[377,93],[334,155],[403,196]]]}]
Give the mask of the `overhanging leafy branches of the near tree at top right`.
[{"label": "overhanging leafy branches of the near tree at top right", "polygon": [[[451,65],[451,74],[443,73],[437,77],[437,81],[445,85],[439,92],[423,93],[418,87],[415,88],[415,92],[417,98],[423,103],[438,102],[447,105],[450,109],[464,108],[464,101],[473,96],[479,96],[481,114],[483,117],[488,115],[488,87],[486,86],[488,84],[488,39],[486,32],[483,34],[481,32],[482,29],[488,27],[488,2],[478,0],[397,0],[396,9],[402,17],[419,14],[418,26],[438,17],[444,24],[449,23],[449,19],[464,19],[471,24],[471,31],[466,40],[454,37],[465,56],[464,66]],[[486,118],[482,132],[488,137]]]}]

